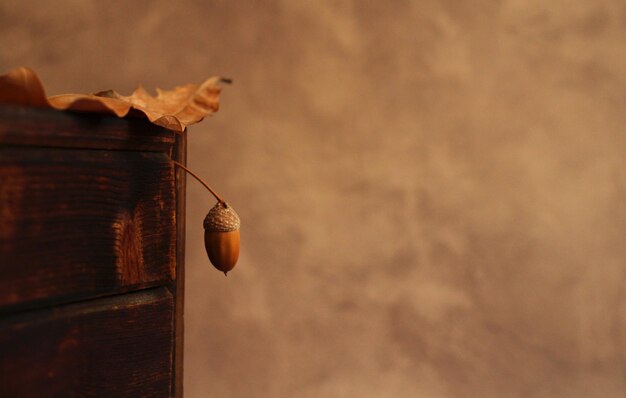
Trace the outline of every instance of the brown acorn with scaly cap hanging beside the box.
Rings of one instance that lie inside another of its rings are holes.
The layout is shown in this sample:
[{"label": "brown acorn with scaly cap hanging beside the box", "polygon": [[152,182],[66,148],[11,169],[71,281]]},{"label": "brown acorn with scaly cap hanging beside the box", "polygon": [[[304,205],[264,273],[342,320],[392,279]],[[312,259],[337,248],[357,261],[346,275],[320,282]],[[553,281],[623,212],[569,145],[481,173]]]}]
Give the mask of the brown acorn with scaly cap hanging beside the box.
[{"label": "brown acorn with scaly cap hanging beside the box", "polygon": [[209,260],[224,275],[239,259],[239,216],[226,202],[217,202],[204,218],[204,246]]}]

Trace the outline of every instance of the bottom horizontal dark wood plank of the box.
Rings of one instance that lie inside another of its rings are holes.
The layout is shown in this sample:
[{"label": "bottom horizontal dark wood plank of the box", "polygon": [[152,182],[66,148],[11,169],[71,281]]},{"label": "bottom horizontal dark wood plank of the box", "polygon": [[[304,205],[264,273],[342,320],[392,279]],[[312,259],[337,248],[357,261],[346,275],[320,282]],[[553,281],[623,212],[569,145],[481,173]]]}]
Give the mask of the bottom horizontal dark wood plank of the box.
[{"label": "bottom horizontal dark wood plank of the box", "polygon": [[165,288],[0,320],[2,397],[167,397],[173,300]]}]

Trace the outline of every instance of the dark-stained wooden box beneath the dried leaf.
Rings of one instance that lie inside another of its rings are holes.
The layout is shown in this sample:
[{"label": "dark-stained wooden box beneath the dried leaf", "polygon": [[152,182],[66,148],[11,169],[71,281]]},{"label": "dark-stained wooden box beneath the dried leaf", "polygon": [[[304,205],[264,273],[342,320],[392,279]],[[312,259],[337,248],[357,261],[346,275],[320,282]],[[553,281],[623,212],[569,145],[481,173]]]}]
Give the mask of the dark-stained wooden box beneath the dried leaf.
[{"label": "dark-stained wooden box beneath the dried leaf", "polygon": [[182,396],[185,145],[0,106],[0,397]]}]

